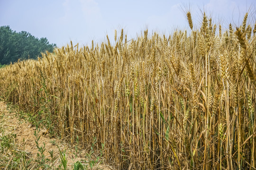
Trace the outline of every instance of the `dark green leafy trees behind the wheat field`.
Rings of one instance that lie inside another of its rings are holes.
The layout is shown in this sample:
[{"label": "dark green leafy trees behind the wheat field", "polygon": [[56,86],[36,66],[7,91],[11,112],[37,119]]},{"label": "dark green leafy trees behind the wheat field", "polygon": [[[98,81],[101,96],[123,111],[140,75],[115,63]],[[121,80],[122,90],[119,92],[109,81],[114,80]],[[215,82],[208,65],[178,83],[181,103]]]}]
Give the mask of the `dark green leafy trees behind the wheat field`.
[{"label": "dark green leafy trees behind the wheat field", "polygon": [[0,65],[16,62],[18,59],[37,59],[41,52],[52,52],[56,44],[46,38],[31,35],[26,31],[16,32],[9,26],[0,27]]}]

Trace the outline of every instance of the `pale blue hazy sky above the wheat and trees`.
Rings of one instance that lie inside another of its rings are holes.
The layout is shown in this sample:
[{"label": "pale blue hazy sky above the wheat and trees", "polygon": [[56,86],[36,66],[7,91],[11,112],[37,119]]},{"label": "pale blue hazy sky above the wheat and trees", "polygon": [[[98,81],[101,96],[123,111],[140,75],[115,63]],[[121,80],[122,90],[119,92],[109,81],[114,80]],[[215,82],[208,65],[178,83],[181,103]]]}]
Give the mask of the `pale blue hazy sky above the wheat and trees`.
[{"label": "pale blue hazy sky above the wheat and trees", "polygon": [[58,47],[70,41],[90,45],[114,39],[124,29],[128,40],[145,29],[149,34],[169,35],[189,30],[184,11],[190,10],[194,29],[200,27],[202,11],[222,28],[239,26],[249,11],[256,21],[256,0],[0,0],[0,26],[46,37]]}]

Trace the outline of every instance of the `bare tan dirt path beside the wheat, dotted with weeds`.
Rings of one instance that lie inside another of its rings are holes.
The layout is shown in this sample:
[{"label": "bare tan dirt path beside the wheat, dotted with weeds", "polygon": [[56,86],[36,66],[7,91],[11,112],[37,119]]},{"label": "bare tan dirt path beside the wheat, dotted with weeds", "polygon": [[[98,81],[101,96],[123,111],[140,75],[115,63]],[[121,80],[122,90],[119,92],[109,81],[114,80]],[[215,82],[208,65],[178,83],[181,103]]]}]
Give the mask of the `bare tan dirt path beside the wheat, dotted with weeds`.
[{"label": "bare tan dirt path beside the wheat, dotted with weeds", "polygon": [[[16,116],[15,112],[7,109],[7,105],[4,102],[0,102],[0,128],[2,132],[0,137],[7,134],[16,134],[16,145],[19,151],[25,151],[27,155],[33,160],[37,159],[38,148],[36,145],[36,136],[34,135],[36,127],[26,122],[24,119],[20,119]],[[76,161],[81,161],[85,166],[89,164],[87,154],[80,151],[79,154],[73,148],[70,148],[68,144],[63,143],[57,138],[51,138],[46,129],[40,129],[38,136],[41,136],[38,142],[39,147],[45,144],[44,155],[47,159],[51,159],[48,151],[53,151],[53,155],[56,158],[55,164],[60,164],[60,152],[66,150],[67,153],[67,167],[73,169],[73,164]],[[87,165],[90,168],[89,165]],[[97,161],[93,168],[94,170],[113,170],[110,166],[102,165],[102,161]]]}]

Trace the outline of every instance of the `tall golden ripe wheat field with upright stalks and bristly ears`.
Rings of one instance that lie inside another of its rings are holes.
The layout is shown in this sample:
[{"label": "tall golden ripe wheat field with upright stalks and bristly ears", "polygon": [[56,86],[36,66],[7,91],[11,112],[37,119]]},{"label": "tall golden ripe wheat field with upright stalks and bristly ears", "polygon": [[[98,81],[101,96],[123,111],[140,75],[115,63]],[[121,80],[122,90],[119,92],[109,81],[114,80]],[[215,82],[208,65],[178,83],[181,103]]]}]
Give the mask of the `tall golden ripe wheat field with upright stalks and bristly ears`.
[{"label": "tall golden ripe wheat field with upright stalks and bristly ears", "polygon": [[[0,95],[119,170],[256,169],[256,22],[71,44],[0,69]],[[218,29],[217,29],[218,28]],[[189,31],[188,31],[189,32]]]}]

